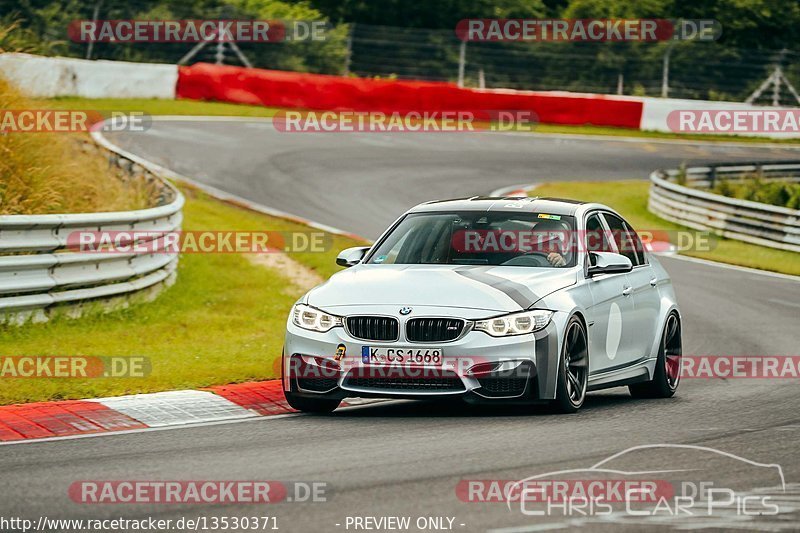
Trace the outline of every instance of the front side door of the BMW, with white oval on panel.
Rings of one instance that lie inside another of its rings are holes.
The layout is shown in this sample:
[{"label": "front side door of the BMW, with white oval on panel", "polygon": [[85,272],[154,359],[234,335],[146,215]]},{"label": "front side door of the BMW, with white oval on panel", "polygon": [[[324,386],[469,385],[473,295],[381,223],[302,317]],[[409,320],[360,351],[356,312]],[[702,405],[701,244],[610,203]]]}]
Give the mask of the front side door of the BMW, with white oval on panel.
[{"label": "front side door of the BMW, with white oval on panel", "polygon": [[[586,250],[617,252],[608,227],[600,212],[586,216]],[[630,287],[628,275],[600,274],[587,280],[591,305],[587,309],[589,323],[589,373],[604,372],[628,364],[633,356],[631,334],[624,317],[633,312],[633,300],[625,292]]]}]

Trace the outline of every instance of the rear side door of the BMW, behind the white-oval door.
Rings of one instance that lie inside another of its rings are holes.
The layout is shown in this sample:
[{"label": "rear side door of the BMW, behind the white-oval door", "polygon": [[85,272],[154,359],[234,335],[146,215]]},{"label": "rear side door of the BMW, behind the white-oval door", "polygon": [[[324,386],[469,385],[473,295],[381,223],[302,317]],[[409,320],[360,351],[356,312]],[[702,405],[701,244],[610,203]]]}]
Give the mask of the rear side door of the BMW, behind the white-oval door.
[{"label": "rear side door of the BMW, behind the white-oval door", "polygon": [[633,263],[633,270],[628,273],[633,312],[624,316],[623,329],[633,332],[631,354],[628,359],[630,362],[635,362],[650,355],[653,340],[657,335],[661,305],[658,280],[653,267],[647,262],[642,241],[630,225],[613,213],[604,212],[603,217],[611,230],[619,253]]}]

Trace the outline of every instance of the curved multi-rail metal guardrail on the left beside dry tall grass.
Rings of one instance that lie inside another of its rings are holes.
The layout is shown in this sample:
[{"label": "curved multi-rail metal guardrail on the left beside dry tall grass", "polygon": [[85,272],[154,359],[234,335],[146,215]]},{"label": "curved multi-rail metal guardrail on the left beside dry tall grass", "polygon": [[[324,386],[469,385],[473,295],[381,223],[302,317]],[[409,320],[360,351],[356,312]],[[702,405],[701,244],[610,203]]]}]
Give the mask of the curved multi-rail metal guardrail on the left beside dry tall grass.
[{"label": "curved multi-rail metal guardrail on the left beside dry tall grass", "polygon": [[[177,254],[69,251],[67,239],[73,232],[181,227],[184,198],[175,187],[106,146],[98,145],[98,150],[108,155],[110,167],[157,181],[159,205],[124,212],[0,216],[0,323],[46,321],[49,309],[65,304],[101,299],[109,305],[109,299],[119,298],[127,302],[134,293],[174,280]],[[80,311],[80,306],[70,308],[73,315]]]}]

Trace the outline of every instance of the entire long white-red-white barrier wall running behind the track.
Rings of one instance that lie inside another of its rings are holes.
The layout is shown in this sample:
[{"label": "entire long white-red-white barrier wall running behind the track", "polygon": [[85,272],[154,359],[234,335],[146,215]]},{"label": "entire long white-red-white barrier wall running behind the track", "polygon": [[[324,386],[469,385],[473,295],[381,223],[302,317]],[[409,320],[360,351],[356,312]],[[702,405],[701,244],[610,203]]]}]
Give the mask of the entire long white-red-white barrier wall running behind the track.
[{"label": "entire long white-red-white barrier wall running behind the track", "polygon": [[[34,97],[186,98],[279,108],[436,113],[529,111],[543,124],[675,132],[677,111],[765,112],[738,102],[640,98],[561,91],[459,88],[452,83],[374,80],[197,63],[190,67],[0,54],[0,74]],[[797,111],[796,109],[794,110]],[[790,117],[791,118],[791,117]],[[698,131],[798,137],[799,132]]]}]

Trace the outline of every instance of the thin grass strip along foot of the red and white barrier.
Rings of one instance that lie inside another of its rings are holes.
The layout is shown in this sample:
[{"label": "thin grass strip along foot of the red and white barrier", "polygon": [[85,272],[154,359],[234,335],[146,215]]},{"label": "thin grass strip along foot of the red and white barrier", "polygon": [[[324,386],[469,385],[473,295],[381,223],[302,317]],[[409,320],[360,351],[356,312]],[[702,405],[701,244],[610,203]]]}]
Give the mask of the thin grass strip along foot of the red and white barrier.
[{"label": "thin grass strip along foot of the red and white barrier", "polygon": [[[142,111],[150,115],[271,117],[279,111],[279,109],[272,107],[228,104],[222,102],[202,102],[197,100],[154,100],[141,98],[54,98],[49,100],[39,100],[38,103],[45,107],[100,111],[107,114],[111,114],[112,111]],[[765,139],[764,137],[746,137],[740,135],[691,135],[660,131],[639,131],[627,128],[612,128],[607,126],[592,125],[564,126],[559,124],[538,124],[533,131],[535,133],[641,137],[653,140],[671,139],[685,141],[800,144],[800,139]]]}]

